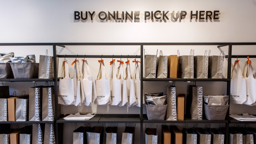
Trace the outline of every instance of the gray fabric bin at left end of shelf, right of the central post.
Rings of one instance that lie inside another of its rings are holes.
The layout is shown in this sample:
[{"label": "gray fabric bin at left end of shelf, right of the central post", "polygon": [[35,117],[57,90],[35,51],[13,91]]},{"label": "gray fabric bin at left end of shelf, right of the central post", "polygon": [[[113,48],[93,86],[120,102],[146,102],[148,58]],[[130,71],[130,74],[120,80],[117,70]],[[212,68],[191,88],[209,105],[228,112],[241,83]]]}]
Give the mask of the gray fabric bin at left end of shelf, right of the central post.
[{"label": "gray fabric bin at left end of shelf, right of the central post", "polygon": [[146,105],[148,120],[164,120],[167,105]]}]

